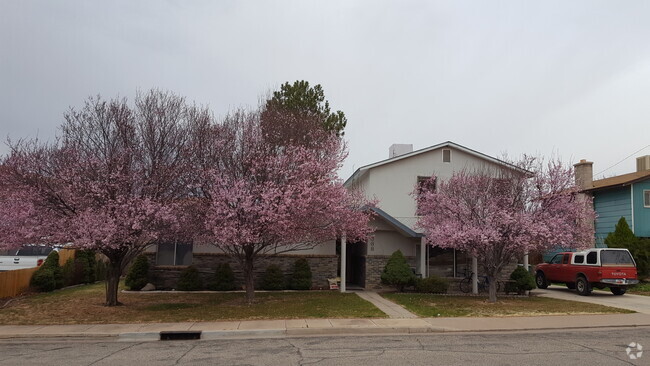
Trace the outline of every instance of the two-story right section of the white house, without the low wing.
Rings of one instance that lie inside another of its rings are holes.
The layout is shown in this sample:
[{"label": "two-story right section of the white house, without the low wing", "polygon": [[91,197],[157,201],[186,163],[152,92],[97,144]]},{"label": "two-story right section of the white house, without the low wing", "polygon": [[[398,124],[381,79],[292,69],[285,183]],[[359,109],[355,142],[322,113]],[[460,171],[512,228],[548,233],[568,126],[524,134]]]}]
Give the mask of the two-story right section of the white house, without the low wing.
[{"label": "two-story right section of the white house, without the low wing", "polygon": [[369,199],[379,202],[371,222],[374,235],[367,243],[347,245],[346,277],[353,285],[375,288],[390,255],[401,250],[415,272],[427,277],[435,274],[455,277],[467,268],[471,258],[451,249],[424,244],[416,226],[417,200],[413,194],[431,175],[439,180],[460,170],[516,167],[458,145],[451,141],[413,151],[413,145],[395,144],[389,158],[357,169],[345,185],[363,190]]}]

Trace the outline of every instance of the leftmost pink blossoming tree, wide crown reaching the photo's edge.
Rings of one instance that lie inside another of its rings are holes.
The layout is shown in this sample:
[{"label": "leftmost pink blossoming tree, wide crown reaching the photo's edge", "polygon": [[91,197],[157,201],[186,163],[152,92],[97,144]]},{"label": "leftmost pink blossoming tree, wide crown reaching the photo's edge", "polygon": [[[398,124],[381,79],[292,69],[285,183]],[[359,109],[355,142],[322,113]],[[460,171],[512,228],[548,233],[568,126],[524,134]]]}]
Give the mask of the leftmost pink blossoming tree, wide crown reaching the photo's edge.
[{"label": "leftmost pink blossoming tree, wide crown reaching the photo's edge", "polygon": [[106,305],[144,249],[181,233],[191,132],[206,112],[151,91],[135,106],[90,98],[56,142],[20,141],[0,170],[0,245],[70,243],[108,258]]}]

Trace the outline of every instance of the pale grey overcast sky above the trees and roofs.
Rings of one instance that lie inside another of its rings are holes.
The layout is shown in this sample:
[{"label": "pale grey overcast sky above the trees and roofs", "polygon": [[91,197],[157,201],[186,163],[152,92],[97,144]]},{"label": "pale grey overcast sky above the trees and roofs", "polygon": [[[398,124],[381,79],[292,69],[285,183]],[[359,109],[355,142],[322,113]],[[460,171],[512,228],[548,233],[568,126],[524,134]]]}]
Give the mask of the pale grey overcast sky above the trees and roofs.
[{"label": "pale grey overcast sky above the trees and roofs", "polygon": [[343,178],[447,140],[594,173],[634,153],[600,176],[628,173],[650,154],[650,2],[0,0],[3,139],[52,138],[89,95],[222,116],[299,79],[348,118]]}]

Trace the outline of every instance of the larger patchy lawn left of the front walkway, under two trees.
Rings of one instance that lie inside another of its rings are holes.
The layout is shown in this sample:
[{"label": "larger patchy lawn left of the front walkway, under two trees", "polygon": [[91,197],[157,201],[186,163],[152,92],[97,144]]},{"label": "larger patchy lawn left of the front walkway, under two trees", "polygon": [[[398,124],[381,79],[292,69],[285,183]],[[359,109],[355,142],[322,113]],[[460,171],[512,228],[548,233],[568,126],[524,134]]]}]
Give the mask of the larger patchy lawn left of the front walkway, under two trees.
[{"label": "larger patchy lawn left of the front walkway, under two trees", "polygon": [[104,285],[93,284],[14,299],[0,324],[110,324],[297,318],[383,318],[356,294],[335,291],[261,292],[253,305],[243,293],[120,293],[123,306],[106,307]]}]

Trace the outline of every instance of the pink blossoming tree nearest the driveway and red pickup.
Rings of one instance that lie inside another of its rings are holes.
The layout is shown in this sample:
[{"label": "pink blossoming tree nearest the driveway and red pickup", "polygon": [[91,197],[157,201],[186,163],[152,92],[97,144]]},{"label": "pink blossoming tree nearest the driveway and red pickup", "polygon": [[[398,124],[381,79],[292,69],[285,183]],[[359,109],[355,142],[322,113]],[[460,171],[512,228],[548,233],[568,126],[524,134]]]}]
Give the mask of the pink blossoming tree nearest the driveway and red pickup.
[{"label": "pink blossoming tree nearest the driveway and red pickup", "polygon": [[504,266],[524,253],[593,241],[592,202],[579,193],[570,167],[531,158],[516,165],[460,171],[417,197],[418,225],[428,243],[476,256],[491,302]]}]

